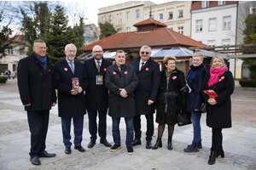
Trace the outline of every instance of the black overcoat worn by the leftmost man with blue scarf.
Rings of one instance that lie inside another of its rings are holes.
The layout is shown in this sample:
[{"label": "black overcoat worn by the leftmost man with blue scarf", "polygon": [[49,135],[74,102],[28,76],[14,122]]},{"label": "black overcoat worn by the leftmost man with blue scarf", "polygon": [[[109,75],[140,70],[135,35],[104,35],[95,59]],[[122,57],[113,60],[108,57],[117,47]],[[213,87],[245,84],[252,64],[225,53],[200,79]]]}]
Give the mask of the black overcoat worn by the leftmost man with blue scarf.
[{"label": "black overcoat worn by the leftmost man with blue scarf", "polygon": [[46,71],[39,64],[36,54],[20,59],[18,70],[18,87],[23,105],[31,103],[25,111],[50,110],[51,104],[56,102],[53,87],[53,69],[47,57]]}]

